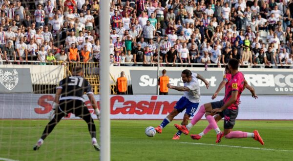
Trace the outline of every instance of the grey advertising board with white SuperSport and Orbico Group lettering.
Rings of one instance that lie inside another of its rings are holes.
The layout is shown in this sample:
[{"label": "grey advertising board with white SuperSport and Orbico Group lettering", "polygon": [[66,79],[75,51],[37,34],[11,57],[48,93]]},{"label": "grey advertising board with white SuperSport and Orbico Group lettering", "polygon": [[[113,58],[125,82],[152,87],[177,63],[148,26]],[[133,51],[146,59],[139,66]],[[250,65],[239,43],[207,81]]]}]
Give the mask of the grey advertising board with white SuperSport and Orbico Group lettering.
[{"label": "grey advertising board with white SuperSport and Orbico Group lettering", "polygon": [[[209,89],[200,80],[201,93],[213,94],[218,85],[223,80],[221,71],[192,71],[202,75],[209,81]],[[293,95],[293,72],[242,72],[248,84],[255,88],[259,95]],[[161,74],[161,73],[160,73]],[[170,78],[169,83],[175,86],[183,86],[181,71],[167,71]],[[157,72],[130,70],[131,85],[135,95],[154,95],[156,94]],[[220,94],[224,94],[224,89]],[[180,94],[179,91],[169,89],[169,94]],[[244,90],[243,94],[250,94],[249,90]]]}]

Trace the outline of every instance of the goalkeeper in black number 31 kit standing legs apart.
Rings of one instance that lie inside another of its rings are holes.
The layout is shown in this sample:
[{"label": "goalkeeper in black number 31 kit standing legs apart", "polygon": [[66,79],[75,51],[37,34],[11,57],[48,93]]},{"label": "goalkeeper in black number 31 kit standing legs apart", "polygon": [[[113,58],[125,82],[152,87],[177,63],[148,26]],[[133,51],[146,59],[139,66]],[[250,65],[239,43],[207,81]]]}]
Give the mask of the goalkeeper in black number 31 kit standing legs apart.
[{"label": "goalkeeper in black number 31 kit standing legs apart", "polygon": [[[83,68],[76,66],[72,71],[73,76],[69,76],[60,81],[57,87],[57,92],[53,102],[53,110],[50,112],[50,118],[53,118],[45,127],[40,140],[34,146],[34,150],[38,150],[46,137],[52,132],[57,123],[67,114],[73,113],[75,116],[80,117],[86,121],[88,131],[92,138],[92,145],[97,151],[100,151],[100,145],[96,139],[96,126],[84,105],[84,92],[89,98],[95,113],[100,118],[100,111],[98,109],[97,101],[94,98],[91,85],[82,76],[84,75]],[[55,116],[53,117],[53,115]]]}]

